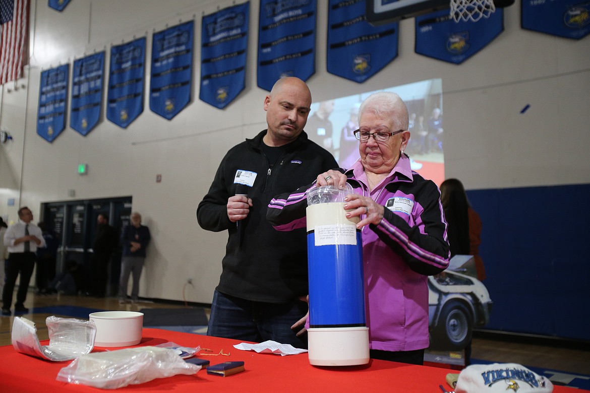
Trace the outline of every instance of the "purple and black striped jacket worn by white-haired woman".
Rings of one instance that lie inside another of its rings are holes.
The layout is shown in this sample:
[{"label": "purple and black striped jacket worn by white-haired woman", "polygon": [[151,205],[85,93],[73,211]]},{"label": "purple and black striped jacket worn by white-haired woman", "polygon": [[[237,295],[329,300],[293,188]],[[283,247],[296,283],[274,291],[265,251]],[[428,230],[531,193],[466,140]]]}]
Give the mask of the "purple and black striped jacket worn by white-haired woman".
[{"label": "purple and black striped jacket worn by white-haired woman", "polygon": [[[355,193],[386,206],[381,223],[362,229],[370,348],[427,348],[427,276],[446,269],[450,257],[440,191],[410,169],[405,154],[370,193],[360,161],[345,173]],[[306,227],[306,191],[312,187],[315,184],[271,200],[267,219],[275,229]]]}]

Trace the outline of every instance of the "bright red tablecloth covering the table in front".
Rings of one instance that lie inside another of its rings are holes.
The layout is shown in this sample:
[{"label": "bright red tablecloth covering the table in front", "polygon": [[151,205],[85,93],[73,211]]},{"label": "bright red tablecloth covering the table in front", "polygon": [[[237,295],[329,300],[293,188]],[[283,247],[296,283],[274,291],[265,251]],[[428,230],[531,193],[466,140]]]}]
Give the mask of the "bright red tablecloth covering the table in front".
[{"label": "bright red tablecloth covering the table in front", "polygon": [[[438,385],[448,389],[445,376],[448,369],[414,366],[395,362],[371,360],[368,365],[348,367],[317,367],[309,364],[307,354],[280,356],[240,351],[233,347],[240,341],[179,333],[160,329],[143,329],[140,345],[175,342],[182,346],[201,346],[212,354],[205,356],[211,364],[244,361],[245,371],[230,377],[208,375],[201,369],[195,375],[176,375],[154,379],[140,385],[129,385],[119,390],[138,392],[402,392],[439,393]],[[47,345],[47,342],[42,342]],[[104,348],[94,348],[101,351]],[[115,348],[109,348],[115,349]],[[201,351],[203,354],[204,351]],[[12,346],[0,347],[0,386],[2,392],[97,392],[96,388],[71,385],[55,380],[61,368],[70,362],[44,361],[19,354]],[[555,393],[582,392],[566,387],[555,387]]]}]

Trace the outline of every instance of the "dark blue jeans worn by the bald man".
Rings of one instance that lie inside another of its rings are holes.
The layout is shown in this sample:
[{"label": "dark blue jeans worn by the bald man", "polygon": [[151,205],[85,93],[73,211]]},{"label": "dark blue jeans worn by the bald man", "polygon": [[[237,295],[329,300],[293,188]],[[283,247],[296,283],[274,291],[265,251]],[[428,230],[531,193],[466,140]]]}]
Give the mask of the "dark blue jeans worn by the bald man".
[{"label": "dark blue jeans worn by the bald man", "polygon": [[207,335],[253,342],[273,340],[307,349],[307,335],[297,337],[291,330],[307,310],[307,303],[299,299],[281,304],[253,302],[216,290]]}]

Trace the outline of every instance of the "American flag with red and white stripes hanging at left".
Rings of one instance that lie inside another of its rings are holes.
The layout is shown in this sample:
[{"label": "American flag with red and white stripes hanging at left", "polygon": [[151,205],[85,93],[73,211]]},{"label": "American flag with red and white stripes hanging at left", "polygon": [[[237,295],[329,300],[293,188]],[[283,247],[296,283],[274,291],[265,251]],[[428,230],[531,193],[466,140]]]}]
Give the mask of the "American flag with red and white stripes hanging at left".
[{"label": "American flag with red and white stripes hanging at left", "polygon": [[29,0],[0,0],[0,84],[17,80],[28,60]]}]

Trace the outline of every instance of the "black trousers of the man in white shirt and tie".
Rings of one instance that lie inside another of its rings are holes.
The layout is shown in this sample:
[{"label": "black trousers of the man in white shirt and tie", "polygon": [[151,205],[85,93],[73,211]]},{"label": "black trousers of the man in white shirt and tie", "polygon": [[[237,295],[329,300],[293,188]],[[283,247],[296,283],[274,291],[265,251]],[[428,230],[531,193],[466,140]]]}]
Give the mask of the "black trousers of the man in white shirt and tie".
[{"label": "black trousers of the man in white shirt and tie", "polygon": [[16,308],[25,306],[27,300],[27,290],[29,282],[35,267],[34,252],[11,253],[8,259],[4,261],[4,290],[2,291],[2,308],[9,309],[12,304],[12,293],[17,277],[20,274],[21,279],[18,283],[17,302],[14,303]]}]

